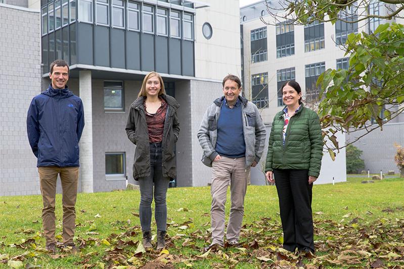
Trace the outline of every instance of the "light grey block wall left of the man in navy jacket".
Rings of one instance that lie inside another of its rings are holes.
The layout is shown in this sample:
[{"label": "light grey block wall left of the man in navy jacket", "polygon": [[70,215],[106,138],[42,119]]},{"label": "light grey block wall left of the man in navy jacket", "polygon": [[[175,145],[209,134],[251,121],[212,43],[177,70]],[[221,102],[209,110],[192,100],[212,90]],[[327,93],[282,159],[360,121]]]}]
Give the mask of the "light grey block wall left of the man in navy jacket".
[{"label": "light grey block wall left of the man in navy jacket", "polygon": [[[0,5],[0,25],[0,196],[38,194],[26,117],[41,86],[40,15]],[[16,32],[24,42],[16,42]]]}]

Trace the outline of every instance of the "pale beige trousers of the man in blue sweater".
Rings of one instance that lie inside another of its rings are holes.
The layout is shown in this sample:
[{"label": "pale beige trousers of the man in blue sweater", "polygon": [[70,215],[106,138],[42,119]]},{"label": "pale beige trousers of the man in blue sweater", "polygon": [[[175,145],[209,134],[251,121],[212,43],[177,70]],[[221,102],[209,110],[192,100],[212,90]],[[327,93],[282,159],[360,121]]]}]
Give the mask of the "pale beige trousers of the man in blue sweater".
[{"label": "pale beige trousers of the man in blue sweater", "polygon": [[227,226],[228,241],[239,239],[244,217],[244,197],[247,191],[247,175],[250,167],[246,168],[245,157],[221,159],[212,163],[212,205],[210,209],[212,243],[223,245],[225,236],[225,203],[227,189],[230,184],[230,218]]}]

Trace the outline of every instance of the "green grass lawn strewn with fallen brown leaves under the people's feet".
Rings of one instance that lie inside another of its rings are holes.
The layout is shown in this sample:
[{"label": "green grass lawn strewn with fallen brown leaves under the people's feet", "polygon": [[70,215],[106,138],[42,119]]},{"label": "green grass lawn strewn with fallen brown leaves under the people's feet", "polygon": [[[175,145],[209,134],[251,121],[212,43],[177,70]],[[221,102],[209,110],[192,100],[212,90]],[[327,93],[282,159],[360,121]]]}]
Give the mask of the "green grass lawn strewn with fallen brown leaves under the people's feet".
[{"label": "green grass lawn strewn with fallen brown leaves under the people's feet", "polygon": [[[313,187],[316,257],[280,249],[283,238],[275,186],[248,187],[242,244],[210,253],[202,251],[210,238],[208,187],[168,190],[170,239],[163,253],[143,252],[139,246],[139,191],[78,194],[75,242],[80,251],[75,255],[62,249],[57,255],[44,253],[40,195],[0,197],[0,268],[404,266],[404,180],[362,184],[363,180],[367,176]],[[226,208],[228,216],[230,193]],[[61,195],[57,195],[56,215],[61,241]]]}]

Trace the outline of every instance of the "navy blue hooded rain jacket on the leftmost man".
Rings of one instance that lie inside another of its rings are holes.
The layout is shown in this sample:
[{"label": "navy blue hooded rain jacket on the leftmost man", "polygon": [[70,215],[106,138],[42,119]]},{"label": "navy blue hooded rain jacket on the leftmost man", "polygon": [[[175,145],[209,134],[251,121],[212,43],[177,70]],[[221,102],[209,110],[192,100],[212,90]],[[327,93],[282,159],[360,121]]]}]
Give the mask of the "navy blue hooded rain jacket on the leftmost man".
[{"label": "navy blue hooded rain jacket on the leftmost man", "polygon": [[83,103],[68,88],[51,85],[29,105],[27,133],[37,167],[78,167],[84,128]]}]

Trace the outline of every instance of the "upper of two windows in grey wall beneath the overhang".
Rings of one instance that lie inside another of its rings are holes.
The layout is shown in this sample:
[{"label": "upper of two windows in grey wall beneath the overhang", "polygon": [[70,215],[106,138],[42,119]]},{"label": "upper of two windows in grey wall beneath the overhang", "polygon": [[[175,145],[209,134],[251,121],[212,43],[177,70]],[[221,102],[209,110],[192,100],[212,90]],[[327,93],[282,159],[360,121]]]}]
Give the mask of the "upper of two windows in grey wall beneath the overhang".
[{"label": "upper of two windows in grey wall beneath the overhang", "polygon": [[104,81],[104,109],[123,110],[122,81]]}]

